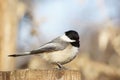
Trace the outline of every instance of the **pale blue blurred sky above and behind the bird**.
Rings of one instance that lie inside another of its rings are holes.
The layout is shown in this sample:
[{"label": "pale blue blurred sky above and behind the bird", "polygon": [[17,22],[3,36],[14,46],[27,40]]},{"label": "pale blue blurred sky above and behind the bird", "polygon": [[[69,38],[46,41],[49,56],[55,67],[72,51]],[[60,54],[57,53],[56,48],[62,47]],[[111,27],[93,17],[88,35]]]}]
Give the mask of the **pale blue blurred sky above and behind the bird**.
[{"label": "pale blue blurred sky above and behind the bird", "polygon": [[35,26],[26,16],[21,20],[18,48],[22,50],[39,47],[71,29],[84,36],[87,29],[96,30],[107,20],[117,25],[120,18],[119,0],[32,0],[31,3],[34,20],[43,21],[37,25],[39,36],[31,36],[30,31]]}]

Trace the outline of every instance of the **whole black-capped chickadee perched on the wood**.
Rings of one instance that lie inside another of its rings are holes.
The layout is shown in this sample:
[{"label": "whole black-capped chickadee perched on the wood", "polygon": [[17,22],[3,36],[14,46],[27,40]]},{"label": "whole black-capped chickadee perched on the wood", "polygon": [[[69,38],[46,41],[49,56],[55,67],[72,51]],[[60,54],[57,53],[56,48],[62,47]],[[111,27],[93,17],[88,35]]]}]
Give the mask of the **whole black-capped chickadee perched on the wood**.
[{"label": "whole black-capped chickadee perched on the wood", "polygon": [[13,54],[10,57],[19,57],[27,55],[40,55],[46,61],[56,64],[59,68],[63,68],[63,64],[72,61],[80,47],[79,35],[74,30],[69,30],[64,35],[42,45],[36,50],[25,52],[24,54]]}]

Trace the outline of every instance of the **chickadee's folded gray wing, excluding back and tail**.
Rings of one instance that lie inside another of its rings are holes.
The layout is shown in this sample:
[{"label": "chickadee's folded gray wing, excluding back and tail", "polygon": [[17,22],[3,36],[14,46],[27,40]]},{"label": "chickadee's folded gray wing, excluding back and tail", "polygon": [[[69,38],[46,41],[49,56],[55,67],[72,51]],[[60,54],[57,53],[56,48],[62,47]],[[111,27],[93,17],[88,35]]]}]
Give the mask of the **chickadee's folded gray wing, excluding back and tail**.
[{"label": "chickadee's folded gray wing, excluding back and tail", "polygon": [[44,52],[53,52],[65,49],[67,44],[61,43],[47,43],[36,50],[32,50],[30,54],[40,54]]}]

